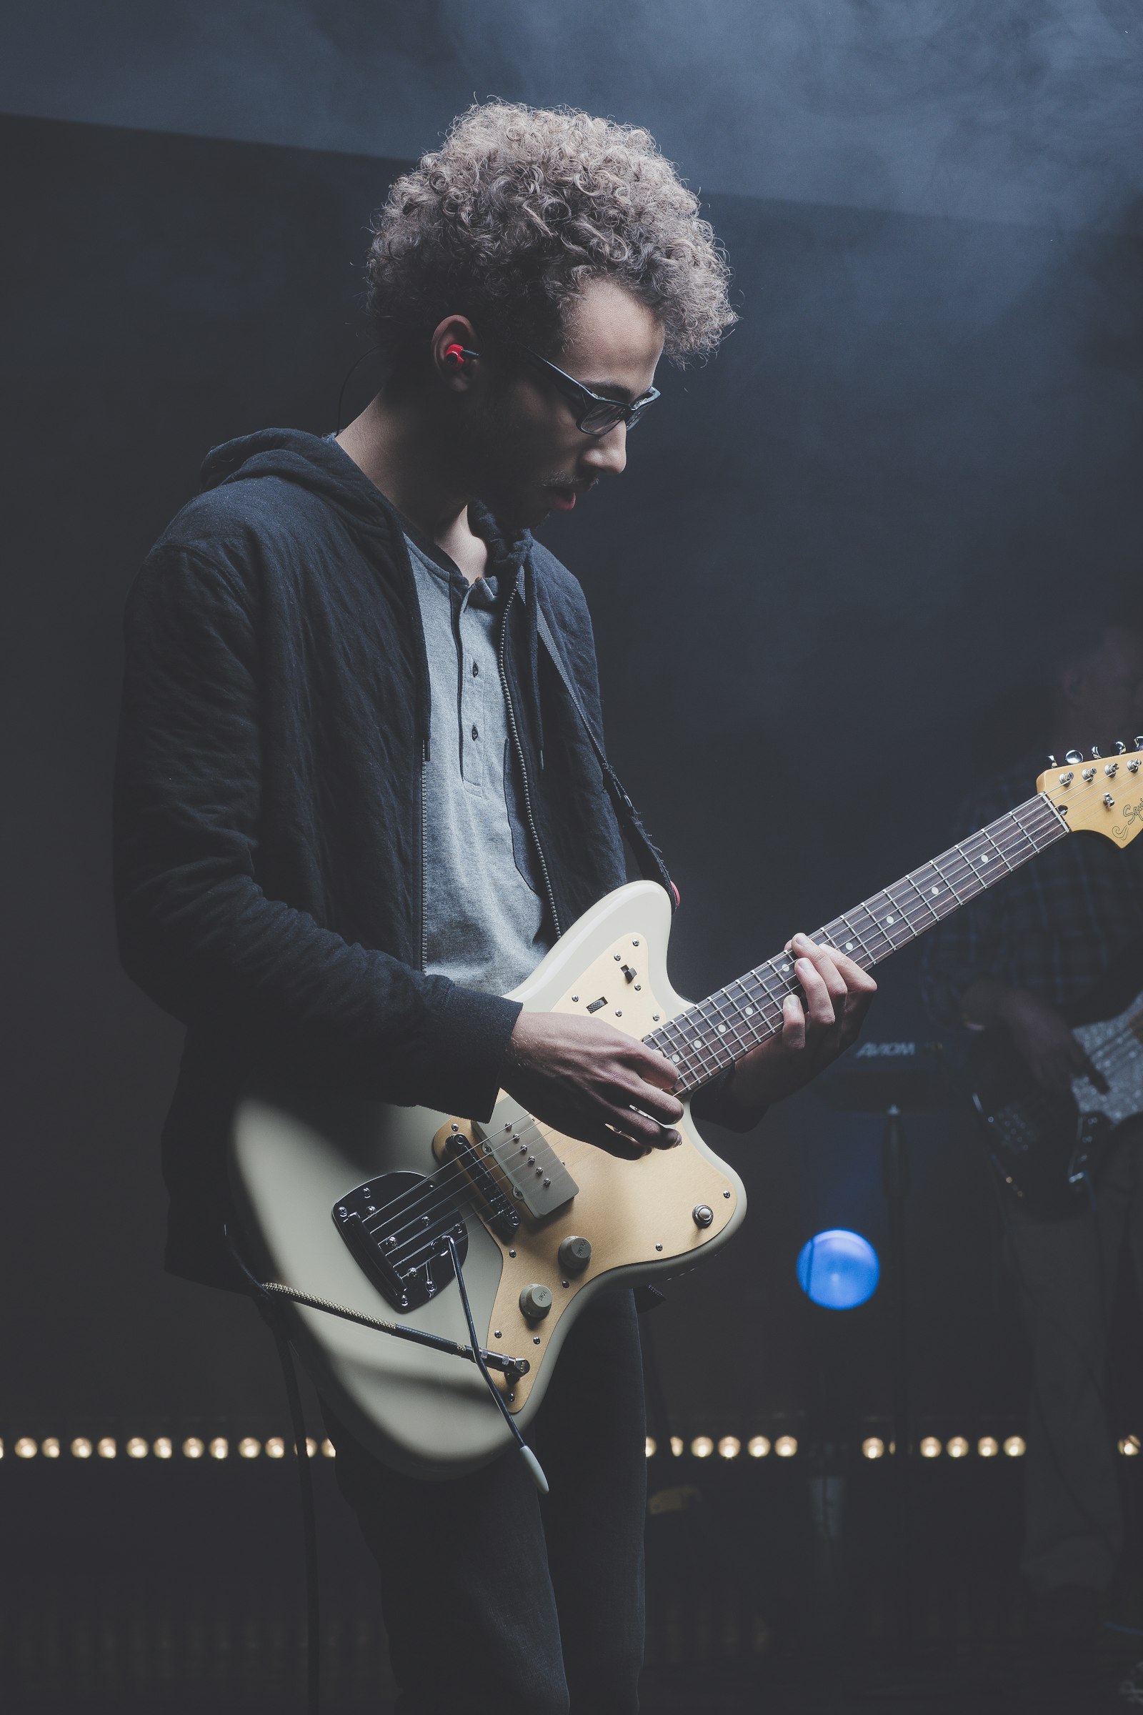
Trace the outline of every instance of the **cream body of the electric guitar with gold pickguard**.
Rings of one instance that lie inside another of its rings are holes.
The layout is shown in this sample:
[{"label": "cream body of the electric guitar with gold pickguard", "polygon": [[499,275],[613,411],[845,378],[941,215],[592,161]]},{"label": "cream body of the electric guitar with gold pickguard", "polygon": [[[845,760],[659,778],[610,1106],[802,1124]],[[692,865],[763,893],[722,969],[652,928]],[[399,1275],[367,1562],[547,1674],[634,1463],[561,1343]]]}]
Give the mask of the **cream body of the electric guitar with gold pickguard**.
[{"label": "cream body of the electric guitar with gold pickguard", "polygon": [[[643,1038],[689,1005],[667,976],[668,935],[663,890],[632,882],[567,930],[512,998],[536,1012],[593,1012]],[[437,1257],[389,1290],[379,1285],[384,1245],[399,1259],[410,1223],[449,1225],[480,1343],[530,1363],[516,1381],[495,1375],[526,1430],[567,1333],[600,1290],[689,1269],[742,1223],[742,1182],[684,1106],[679,1147],[624,1161],[536,1127],[504,1092],[492,1120],[473,1127],[329,1089],[250,1089],[235,1113],[230,1158],[248,1259],[262,1279],[468,1345],[447,1261]],[[473,1161],[476,1176],[466,1170]],[[430,1178],[446,1190],[425,1187]],[[370,1250],[368,1230],[391,1237]],[[586,1266],[560,1261],[571,1238],[588,1240]],[[530,1288],[526,1314],[521,1293]],[[403,1309],[403,1291],[423,1302]],[[536,1315],[545,1291],[550,1309]],[[288,1314],[319,1393],[392,1468],[459,1477],[512,1444],[473,1363],[308,1307],[290,1305]]]}]

